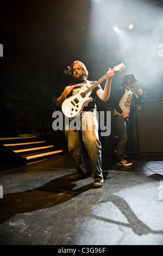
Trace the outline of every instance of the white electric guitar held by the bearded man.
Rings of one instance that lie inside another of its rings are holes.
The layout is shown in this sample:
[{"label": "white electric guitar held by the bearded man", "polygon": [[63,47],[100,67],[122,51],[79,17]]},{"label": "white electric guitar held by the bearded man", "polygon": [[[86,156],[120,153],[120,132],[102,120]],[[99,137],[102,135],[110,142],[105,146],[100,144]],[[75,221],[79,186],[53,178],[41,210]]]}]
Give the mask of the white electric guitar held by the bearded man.
[{"label": "white electric guitar held by the bearded man", "polygon": [[[125,68],[125,66],[123,63],[121,63],[120,65],[115,66],[112,71],[121,72],[123,68]],[[68,118],[76,118],[79,114],[81,114],[85,104],[92,101],[92,98],[90,97],[92,90],[95,89],[98,84],[102,83],[106,77],[107,74],[105,74],[96,83],[92,84],[90,88],[83,87],[77,94],[68,97],[68,99],[66,99],[61,106],[64,115],[66,115]]]}]

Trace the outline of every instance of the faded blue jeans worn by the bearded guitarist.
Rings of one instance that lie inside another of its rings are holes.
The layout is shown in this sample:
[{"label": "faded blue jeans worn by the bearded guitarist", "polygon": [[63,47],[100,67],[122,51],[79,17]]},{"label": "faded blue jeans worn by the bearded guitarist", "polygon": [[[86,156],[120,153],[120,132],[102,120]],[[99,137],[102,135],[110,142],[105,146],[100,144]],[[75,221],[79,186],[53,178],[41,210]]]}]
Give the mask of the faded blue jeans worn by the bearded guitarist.
[{"label": "faded blue jeans worn by the bearded guitarist", "polygon": [[65,136],[68,143],[68,151],[73,159],[79,175],[86,174],[86,167],[82,155],[82,139],[87,153],[91,159],[93,179],[103,179],[101,142],[98,136],[98,122],[96,113],[91,111],[82,112],[79,129],[72,130],[70,125],[65,127]]}]

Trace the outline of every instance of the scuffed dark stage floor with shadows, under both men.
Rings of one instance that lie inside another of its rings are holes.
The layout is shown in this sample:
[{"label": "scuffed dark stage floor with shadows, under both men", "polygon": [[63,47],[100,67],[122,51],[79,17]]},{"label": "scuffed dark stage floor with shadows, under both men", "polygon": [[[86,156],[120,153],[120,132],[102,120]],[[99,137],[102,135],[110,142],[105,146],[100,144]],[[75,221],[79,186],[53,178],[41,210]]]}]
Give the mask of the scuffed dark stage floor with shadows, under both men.
[{"label": "scuffed dark stage floor with shadows, under both men", "polygon": [[163,245],[163,157],[105,156],[101,188],[84,159],[80,180],[68,154],[0,174],[0,245]]}]

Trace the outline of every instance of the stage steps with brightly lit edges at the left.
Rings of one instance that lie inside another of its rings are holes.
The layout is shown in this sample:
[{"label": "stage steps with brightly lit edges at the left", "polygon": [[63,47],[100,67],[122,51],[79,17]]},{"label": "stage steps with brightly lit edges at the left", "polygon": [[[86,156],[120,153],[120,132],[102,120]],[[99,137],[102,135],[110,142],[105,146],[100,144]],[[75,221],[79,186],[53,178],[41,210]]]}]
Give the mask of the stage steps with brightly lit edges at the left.
[{"label": "stage steps with brightly lit edges at the left", "polygon": [[5,162],[5,158],[9,163],[9,155],[12,155],[12,158],[15,156],[15,159],[20,159],[21,164],[27,165],[62,153],[62,150],[54,146],[53,142],[46,142],[36,136],[0,138],[0,144],[1,156],[3,156],[0,159],[0,164]]}]

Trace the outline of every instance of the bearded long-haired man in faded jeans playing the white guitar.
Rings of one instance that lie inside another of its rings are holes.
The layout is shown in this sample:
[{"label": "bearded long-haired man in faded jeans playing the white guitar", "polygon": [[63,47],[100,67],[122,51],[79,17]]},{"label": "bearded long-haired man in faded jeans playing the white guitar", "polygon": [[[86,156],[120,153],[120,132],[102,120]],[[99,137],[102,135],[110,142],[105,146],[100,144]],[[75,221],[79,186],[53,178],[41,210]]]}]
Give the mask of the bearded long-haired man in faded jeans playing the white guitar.
[{"label": "bearded long-haired man in faded jeans playing the white guitar", "polygon": [[[65,88],[64,92],[58,98],[59,107],[61,107],[67,96],[76,94],[81,87],[90,87],[91,84],[96,82],[87,81],[88,71],[86,66],[78,60],[68,66],[67,70],[65,70],[65,73],[71,75],[77,81],[77,84],[72,84],[71,86],[67,86]],[[114,72],[109,69],[106,74],[107,78],[104,90],[100,85],[98,85],[91,92],[90,96],[92,97],[92,101],[86,103],[86,106],[84,106],[84,112],[82,112],[82,116],[80,118],[81,129],[75,131],[71,130],[71,127],[66,127],[65,129],[68,150],[77,168],[77,173],[71,175],[70,179],[84,178],[87,172],[82,155],[81,138],[83,138],[85,148],[91,159],[92,177],[95,180],[93,182],[93,187],[101,187],[104,184],[102,173],[101,142],[99,141],[98,136],[95,100],[96,96],[98,96],[102,101],[108,100],[110,95],[111,80],[112,77],[114,77]],[[92,120],[92,122],[90,122],[90,120]],[[89,127],[89,123],[93,124],[91,128]]]}]

